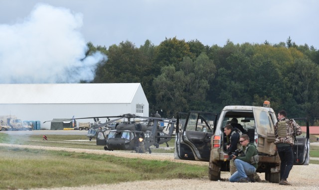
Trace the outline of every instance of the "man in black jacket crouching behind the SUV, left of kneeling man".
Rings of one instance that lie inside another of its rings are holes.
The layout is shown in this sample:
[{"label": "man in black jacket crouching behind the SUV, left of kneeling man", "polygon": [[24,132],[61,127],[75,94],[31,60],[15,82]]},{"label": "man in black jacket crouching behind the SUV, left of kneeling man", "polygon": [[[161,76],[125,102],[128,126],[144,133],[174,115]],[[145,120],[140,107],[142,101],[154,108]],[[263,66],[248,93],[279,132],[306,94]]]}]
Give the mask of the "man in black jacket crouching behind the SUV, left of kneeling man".
[{"label": "man in black jacket crouching behind the SUV, left of kneeling man", "polygon": [[[224,133],[226,134],[226,140],[227,140],[226,149],[228,151],[228,155],[231,155],[232,153],[235,152],[235,150],[240,148],[240,144],[239,144],[240,135],[238,131],[235,128],[233,128],[231,124],[227,124],[225,126]],[[229,161],[229,172],[230,172],[230,175],[236,172],[234,160]]]}]

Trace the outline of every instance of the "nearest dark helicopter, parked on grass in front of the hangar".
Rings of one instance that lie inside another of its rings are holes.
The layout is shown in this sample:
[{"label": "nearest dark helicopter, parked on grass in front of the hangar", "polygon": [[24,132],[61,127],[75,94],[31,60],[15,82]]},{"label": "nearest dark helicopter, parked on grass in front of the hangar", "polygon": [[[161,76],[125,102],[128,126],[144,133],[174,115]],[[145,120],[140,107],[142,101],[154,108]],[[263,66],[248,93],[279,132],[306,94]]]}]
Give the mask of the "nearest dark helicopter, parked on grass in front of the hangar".
[{"label": "nearest dark helicopter, parked on grass in front of the hangar", "polygon": [[[104,150],[135,150],[138,153],[144,153],[148,150],[152,153],[150,147],[166,143],[171,139],[175,119],[161,118],[160,114],[154,117],[144,117],[134,114],[123,115],[127,121],[116,123],[115,129],[110,130],[107,134],[106,130],[100,128],[97,131],[96,144],[104,145]],[[131,121],[131,119],[134,119]],[[147,119],[145,121],[137,121],[136,118]],[[159,122],[167,122],[170,130],[168,134],[163,132],[164,127],[159,126]]]}]

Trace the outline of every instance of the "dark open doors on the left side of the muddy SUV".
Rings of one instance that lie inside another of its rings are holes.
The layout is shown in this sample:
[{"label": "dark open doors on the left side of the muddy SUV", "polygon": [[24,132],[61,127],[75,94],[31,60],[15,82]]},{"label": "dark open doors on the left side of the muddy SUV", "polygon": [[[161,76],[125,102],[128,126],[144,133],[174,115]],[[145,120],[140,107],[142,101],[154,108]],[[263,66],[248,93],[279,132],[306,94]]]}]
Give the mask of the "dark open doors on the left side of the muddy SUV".
[{"label": "dark open doors on the left side of the muddy SUV", "polygon": [[[210,141],[217,114],[189,111],[177,115],[174,157],[183,160],[209,161]],[[180,123],[182,123],[180,125]],[[182,126],[181,132],[179,127]]]}]

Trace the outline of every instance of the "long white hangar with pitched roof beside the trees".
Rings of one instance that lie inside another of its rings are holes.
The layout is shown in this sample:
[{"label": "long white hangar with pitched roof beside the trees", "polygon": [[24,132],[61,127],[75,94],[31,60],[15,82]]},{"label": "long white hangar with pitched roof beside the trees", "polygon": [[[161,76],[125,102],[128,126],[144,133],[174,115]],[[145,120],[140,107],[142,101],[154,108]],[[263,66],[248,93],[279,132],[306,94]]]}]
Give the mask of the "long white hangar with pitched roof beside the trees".
[{"label": "long white hangar with pitched roof beside the trees", "polygon": [[[50,129],[54,118],[149,116],[149,102],[140,83],[0,84],[0,115],[39,120]],[[112,119],[112,118],[111,118]],[[106,118],[100,121],[106,122]],[[77,122],[94,122],[81,119]]]}]

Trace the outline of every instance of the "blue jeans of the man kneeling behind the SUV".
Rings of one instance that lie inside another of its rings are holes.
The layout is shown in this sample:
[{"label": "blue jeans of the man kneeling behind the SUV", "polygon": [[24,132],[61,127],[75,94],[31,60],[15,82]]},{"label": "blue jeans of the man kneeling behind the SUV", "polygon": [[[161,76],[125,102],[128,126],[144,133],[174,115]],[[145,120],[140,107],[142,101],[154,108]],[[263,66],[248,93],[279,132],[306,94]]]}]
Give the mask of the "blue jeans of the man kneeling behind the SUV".
[{"label": "blue jeans of the man kneeling behind the SUV", "polygon": [[248,162],[239,159],[235,159],[234,162],[237,171],[229,178],[229,182],[237,182],[239,179],[247,178],[256,172],[256,168]]}]

